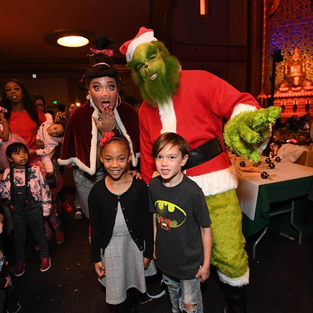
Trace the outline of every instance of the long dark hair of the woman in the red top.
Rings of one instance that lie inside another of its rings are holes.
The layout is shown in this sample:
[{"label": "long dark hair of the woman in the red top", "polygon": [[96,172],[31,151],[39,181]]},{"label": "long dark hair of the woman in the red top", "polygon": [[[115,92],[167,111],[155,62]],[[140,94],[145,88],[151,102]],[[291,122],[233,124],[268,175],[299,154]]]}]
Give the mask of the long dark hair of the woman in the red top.
[{"label": "long dark hair of the woman in the red top", "polygon": [[23,91],[23,104],[24,104],[25,110],[29,114],[29,117],[31,118],[31,120],[34,121],[37,124],[37,128],[38,128],[40,126],[40,124],[39,124],[39,117],[38,117],[38,109],[36,108],[36,105],[35,105],[32,97],[30,96],[28,90],[24,86],[24,84],[20,80],[17,80],[15,78],[10,78],[10,79],[6,80],[4,82],[4,84],[3,84],[3,93],[2,93],[2,98],[1,98],[1,106],[8,110],[8,112],[6,112],[4,114],[4,117],[7,120],[9,120],[9,118],[11,116],[11,102],[7,98],[7,94],[6,94],[5,88],[4,88],[5,85],[7,85],[7,83],[9,83],[11,81],[13,83],[18,84],[22,88],[22,91]]}]

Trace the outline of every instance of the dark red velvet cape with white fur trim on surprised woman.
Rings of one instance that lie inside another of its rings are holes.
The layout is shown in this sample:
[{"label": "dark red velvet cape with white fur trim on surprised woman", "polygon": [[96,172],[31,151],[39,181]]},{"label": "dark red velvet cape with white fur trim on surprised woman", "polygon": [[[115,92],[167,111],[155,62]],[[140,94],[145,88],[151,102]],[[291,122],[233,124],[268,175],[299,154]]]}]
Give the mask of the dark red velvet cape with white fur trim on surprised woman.
[{"label": "dark red velvet cape with white fur trim on surprised woman", "polygon": [[[129,141],[132,164],[137,165],[139,154],[139,128],[136,110],[126,102],[114,108],[115,121]],[[90,101],[74,110],[67,122],[59,165],[75,165],[94,175],[96,171],[96,152],[98,129],[92,116],[98,117],[99,110]]]}]

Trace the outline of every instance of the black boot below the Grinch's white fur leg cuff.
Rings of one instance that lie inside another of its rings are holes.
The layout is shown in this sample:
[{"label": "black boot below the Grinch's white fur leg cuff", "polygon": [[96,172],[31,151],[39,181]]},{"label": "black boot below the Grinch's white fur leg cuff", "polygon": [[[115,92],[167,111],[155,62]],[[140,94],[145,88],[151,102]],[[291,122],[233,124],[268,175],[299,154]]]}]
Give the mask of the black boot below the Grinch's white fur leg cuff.
[{"label": "black boot below the Grinch's white fur leg cuff", "polygon": [[247,313],[247,287],[235,287],[228,284],[222,284],[226,298],[225,313]]}]

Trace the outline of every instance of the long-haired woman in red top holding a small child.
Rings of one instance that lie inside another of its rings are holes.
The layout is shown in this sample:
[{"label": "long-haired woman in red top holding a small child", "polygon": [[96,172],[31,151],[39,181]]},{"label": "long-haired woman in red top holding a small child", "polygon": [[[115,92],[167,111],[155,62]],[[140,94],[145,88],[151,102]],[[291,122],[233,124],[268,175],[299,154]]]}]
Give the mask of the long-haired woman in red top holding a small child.
[{"label": "long-haired woman in red top holding a small child", "polygon": [[[37,130],[46,121],[46,116],[36,108],[28,90],[21,81],[13,78],[5,81],[1,106],[7,109],[4,117],[8,120],[10,133],[20,135],[26,141],[29,149],[37,150]],[[44,176],[46,175],[40,156],[30,156],[29,162],[31,165],[38,166]],[[57,243],[61,244],[64,241],[64,234],[55,218],[54,210],[51,211],[49,221],[56,230]],[[44,228],[47,240],[51,239],[53,234],[46,220]]]}]

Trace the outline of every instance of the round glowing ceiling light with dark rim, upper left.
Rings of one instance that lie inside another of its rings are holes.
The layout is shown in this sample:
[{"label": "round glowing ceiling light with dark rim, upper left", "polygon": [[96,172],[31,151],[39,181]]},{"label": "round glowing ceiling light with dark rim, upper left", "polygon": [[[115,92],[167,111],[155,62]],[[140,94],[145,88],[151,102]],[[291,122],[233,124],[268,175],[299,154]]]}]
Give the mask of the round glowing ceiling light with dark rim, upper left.
[{"label": "round glowing ceiling light with dark rim, upper left", "polygon": [[86,29],[59,29],[44,36],[44,41],[55,46],[83,47],[89,44],[96,34]]}]

